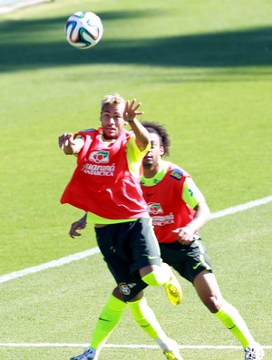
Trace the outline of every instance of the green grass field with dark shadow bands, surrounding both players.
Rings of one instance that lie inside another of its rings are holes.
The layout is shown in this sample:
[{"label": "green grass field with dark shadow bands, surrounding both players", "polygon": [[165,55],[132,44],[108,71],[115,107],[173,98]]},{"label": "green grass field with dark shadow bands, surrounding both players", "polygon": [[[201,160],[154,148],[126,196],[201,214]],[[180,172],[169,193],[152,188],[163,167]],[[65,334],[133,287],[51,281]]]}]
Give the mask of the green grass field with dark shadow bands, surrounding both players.
[{"label": "green grass field with dark shadow bands, surrounding both players", "polygon": [[[78,10],[102,18],[102,41],[91,50],[64,38],[65,21]],[[57,137],[97,126],[108,92],[136,98],[142,120],[167,126],[170,160],[189,171],[212,212],[270,196],[271,17],[270,0],[57,0],[0,15],[0,279],[96,246],[91,228],[82,238],[68,236],[82,212],[59,203],[74,161],[59,151]],[[267,346],[267,359],[271,212],[269,202],[202,229],[221,290]],[[238,342],[180,282],[180,306],[170,306],[159,288],[146,295],[184,346],[184,360],[243,359],[231,347]],[[80,353],[112,287],[100,254],[0,284],[0,359]],[[153,344],[129,311],[108,343],[143,347],[108,346],[101,360],[163,358],[147,348]]]}]

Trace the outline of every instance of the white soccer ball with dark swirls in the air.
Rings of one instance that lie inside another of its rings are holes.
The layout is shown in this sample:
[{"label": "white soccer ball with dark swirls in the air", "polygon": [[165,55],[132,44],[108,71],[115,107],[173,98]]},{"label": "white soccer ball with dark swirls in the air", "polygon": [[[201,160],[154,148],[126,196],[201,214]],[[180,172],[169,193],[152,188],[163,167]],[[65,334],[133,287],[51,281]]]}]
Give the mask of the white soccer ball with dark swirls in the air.
[{"label": "white soccer ball with dark swirls in the air", "polygon": [[101,18],[90,11],[78,11],[65,24],[65,35],[69,44],[78,49],[90,49],[103,34]]}]

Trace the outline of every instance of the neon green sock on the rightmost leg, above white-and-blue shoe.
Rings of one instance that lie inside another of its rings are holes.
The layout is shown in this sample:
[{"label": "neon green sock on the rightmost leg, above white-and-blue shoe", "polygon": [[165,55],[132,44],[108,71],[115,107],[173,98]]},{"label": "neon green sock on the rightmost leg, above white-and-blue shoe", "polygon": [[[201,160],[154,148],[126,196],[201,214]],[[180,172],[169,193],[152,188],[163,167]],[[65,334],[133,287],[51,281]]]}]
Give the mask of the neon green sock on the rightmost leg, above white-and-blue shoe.
[{"label": "neon green sock on the rightmost leg, above white-and-blue shoe", "polygon": [[244,319],[240,316],[238,310],[231,304],[228,304],[227,301],[223,302],[220,310],[214,315],[238,338],[241,345],[247,347],[254,342]]}]

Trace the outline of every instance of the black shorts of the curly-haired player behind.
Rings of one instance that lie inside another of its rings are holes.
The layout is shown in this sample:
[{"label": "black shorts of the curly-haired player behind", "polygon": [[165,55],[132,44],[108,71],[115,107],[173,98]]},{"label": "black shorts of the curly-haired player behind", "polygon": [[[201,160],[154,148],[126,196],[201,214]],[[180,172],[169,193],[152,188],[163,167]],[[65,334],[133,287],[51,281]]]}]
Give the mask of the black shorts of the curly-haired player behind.
[{"label": "black shorts of the curly-haired player behind", "polygon": [[173,267],[181,277],[193,283],[194,278],[203,270],[212,272],[207,250],[201,238],[189,245],[175,241],[170,244],[160,243],[162,260]]}]

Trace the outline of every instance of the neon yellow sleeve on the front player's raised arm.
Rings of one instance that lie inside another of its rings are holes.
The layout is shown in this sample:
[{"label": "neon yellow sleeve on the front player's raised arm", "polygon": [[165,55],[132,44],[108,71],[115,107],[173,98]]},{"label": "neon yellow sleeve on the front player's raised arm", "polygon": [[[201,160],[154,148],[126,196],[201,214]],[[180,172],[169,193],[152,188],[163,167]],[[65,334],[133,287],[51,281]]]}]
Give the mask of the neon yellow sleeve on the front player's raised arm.
[{"label": "neon yellow sleeve on the front player's raised arm", "polygon": [[151,149],[151,144],[149,144],[146,149],[141,151],[136,144],[136,136],[131,135],[129,141],[127,142],[127,160],[129,164],[129,169],[133,176],[139,178],[141,176],[141,162],[144,155]]}]

